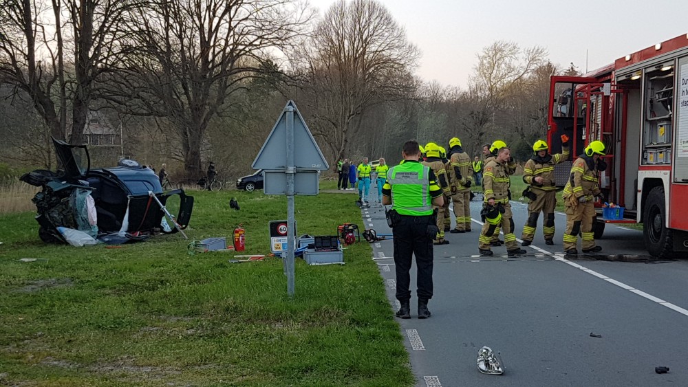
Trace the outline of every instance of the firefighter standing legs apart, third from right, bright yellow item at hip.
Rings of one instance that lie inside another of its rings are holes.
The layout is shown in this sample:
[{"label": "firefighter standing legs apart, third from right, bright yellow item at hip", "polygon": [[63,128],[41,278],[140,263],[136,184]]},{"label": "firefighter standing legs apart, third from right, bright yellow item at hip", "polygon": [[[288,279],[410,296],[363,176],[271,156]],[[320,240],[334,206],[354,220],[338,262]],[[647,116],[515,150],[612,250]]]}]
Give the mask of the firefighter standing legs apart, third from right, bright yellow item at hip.
[{"label": "firefighter standing legs apart, third from right, bright yellow item at hip", "polygon": [[484,184],[484,203],[483,213],[485,223],[482,225],[482,232],[478,238],[478,250],[484,256],[491,256],[492,237],[501,225],[504,230],[504,244],[508,256],[519,256],[526,254],[516,242],[513,234],[514,221],[511,214],[511,204],[509,203],[508,190],[510,179],[508,173],[508,161],[511,158],[509,148],[503,146],[497,151],[497,157],[485,164]]}]

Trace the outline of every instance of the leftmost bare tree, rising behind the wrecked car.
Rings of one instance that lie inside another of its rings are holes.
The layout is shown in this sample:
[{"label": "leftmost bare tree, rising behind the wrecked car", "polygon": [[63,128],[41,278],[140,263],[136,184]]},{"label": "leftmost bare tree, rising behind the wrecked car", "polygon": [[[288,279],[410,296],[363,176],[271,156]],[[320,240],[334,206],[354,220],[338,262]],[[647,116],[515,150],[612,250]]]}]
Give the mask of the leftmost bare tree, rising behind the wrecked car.
[{"label": "leftmost bare tree, rising behind the wrecked car", "polygon": [[[132,0],[3,0],[0,82],[28,93],[50,129],[80,144],[96,78],[107,71]],[[63,16],[67,16],[63,20]]]}]

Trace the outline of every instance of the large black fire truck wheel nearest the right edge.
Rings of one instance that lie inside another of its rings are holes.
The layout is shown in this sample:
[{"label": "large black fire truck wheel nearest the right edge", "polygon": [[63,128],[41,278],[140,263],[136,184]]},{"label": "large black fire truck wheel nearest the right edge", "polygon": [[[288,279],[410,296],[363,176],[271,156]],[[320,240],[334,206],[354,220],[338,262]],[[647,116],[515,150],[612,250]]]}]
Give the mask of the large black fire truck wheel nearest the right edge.
[{"label": "large black fire truck wheel nearest the right edge", "polygon": [[672,254],[673,236],[665,226],[665,211],[664,188],[652,188],[643,209],[643,239],[649,254],[657,258],[668,258]]}]

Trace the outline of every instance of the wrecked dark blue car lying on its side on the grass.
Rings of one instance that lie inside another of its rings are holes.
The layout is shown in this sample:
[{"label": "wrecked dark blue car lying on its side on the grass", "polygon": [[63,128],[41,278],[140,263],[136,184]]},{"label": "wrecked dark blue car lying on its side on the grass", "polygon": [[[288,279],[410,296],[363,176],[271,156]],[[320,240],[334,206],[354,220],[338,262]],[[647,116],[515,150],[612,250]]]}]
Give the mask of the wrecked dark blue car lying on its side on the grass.
[{"label": "wrecked dark blue car lying on its side on the grass", "polygon": [[[86,146],[52,140],[61,170],[34,170],[19,178],[42,188],[32,201],[39,237],[45,243],[66,242],[58,227],[96,238],[113,233],[132,237],[173,233],[189,225],[193,197],[181,189],[163,192],[153,170],[131,159],[122,159],[113,168],[91,169]],[[179,212],[166,219],[165,204],[177,196]]]}]

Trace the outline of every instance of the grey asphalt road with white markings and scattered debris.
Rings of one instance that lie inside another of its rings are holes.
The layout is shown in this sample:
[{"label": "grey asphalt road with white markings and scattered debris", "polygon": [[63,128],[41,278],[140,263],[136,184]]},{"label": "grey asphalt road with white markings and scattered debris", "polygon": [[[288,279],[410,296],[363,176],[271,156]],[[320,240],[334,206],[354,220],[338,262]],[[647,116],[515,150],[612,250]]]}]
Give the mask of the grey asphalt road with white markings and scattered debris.
[{"label": "grey asphalt road with white markings and scattered debris", "polygon": [[[481,205],[471,203],[473,232],[436,246],[432,318],[416,318],[411,280],[411,319],[396,319],[418,386],[688,385],[688,261],[652,261],[642,232],[615,225],[598,241],[602,253],[564,258],[563,214],[555,245],[544,244],[540,219],[528,255],[507,258],[493,247],[493,258],[479,258]],[[512,206],[520,239],[527,206]],[[375,198],[362,214],[365,228],[391,234]],[[392,241],[373,250],[396,311]],[[504,375],[477,370],[484,345],[500,353]]]}]

